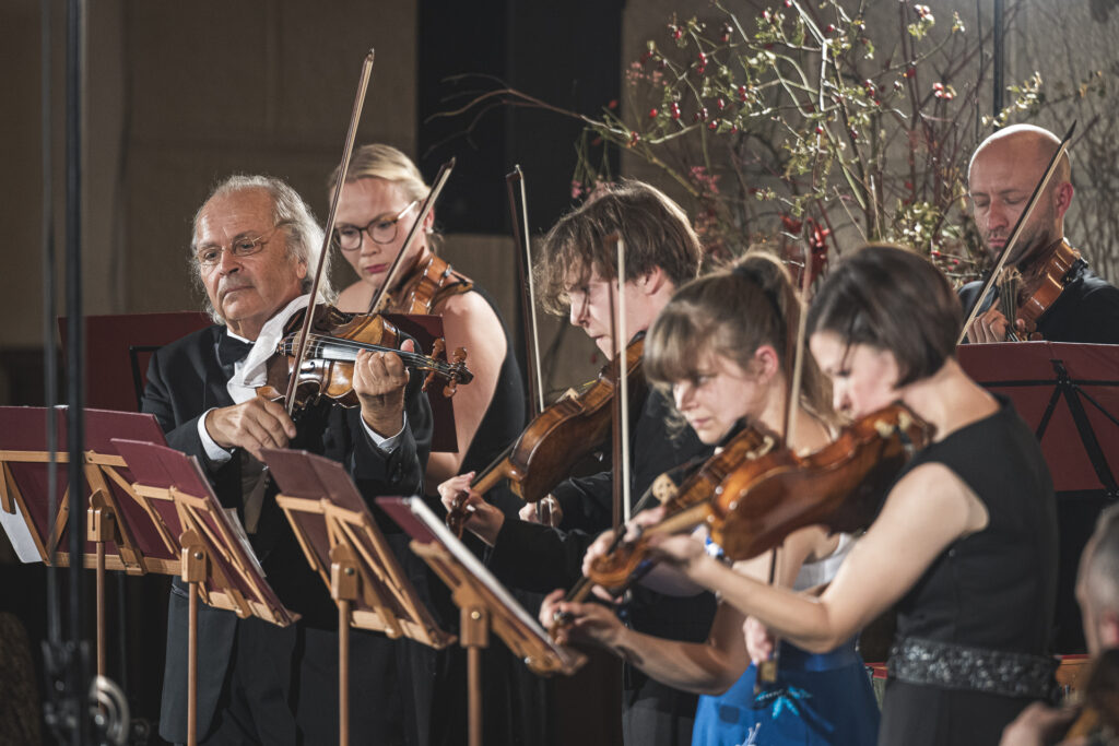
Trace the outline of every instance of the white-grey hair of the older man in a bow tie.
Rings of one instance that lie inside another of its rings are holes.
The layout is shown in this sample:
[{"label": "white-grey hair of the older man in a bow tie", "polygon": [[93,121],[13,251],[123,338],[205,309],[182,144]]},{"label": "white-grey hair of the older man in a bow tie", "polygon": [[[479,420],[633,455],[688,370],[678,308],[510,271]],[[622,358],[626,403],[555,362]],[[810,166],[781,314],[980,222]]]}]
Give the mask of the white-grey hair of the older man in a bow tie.
[{"label": "white-grey hair of the older man in a bow tie", "polygon": [[[288,256],[301,259],[307,264],[307,276],[303,277],[302,292],[311,292],[311,282],[314,280],[314,270],[318,267],[319,253],[322,251],[322,228],[314,219],[314,214],[308,207],[303,198],[292,189],[288,182],[275,177],[263,174],[235,173],[219,182],[206,197],[201,207],[195,213],[192,221],[194,230],[190,237],[190,265],[194,268],[195,282],[201,286],[201,272],[198,266],[196,252],[198,251],[198,220],[203,210],[210,200],[217,197],[228,197],[241,191],[260,189],[267,192],[272,200],[272,221],[275,226],[283,228],[288,236]],[[319,294],[333,302],[336,292],[330,284],[330,252],[327,252],[322,267],[322,280],[319,281]],[[206,312],[217,323],[225,323],[220,312],[210,303],[209,295],[203,287],[203,296],[206,299]]]}]

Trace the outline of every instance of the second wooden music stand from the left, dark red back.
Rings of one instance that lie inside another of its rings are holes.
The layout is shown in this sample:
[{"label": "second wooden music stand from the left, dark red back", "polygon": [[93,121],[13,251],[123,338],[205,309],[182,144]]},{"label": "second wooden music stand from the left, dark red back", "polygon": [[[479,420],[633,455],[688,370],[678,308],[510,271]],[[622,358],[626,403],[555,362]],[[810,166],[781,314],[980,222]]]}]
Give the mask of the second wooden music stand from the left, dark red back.
[{"label": "second wooden music stand from the left, dark red back", "polygon": [[214,495],[194,456],[153,443],[113,440],[135,478],[133,489],[160,516],[161,530],[178,538],[176,574],[189,587],[187,633],[187,743],[198,728],[198,598],[241,618],[257,616],[288,626],[299,615],[284,607],[264,580],[248,538]]}]

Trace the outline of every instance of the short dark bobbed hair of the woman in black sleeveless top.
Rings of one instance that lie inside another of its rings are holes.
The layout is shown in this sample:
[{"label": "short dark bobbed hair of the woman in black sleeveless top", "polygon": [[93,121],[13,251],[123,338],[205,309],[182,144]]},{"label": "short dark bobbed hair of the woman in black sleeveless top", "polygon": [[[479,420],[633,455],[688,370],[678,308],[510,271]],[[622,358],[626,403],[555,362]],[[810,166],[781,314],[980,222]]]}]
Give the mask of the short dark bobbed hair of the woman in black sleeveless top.
[{"label": "short dark bobbed hair of the woman in black sleeveless top", "polygon": [[927,257],[871,244],[824,281],[808,312],[808,333],[830,331],[848,344],[888,350],[897,360],[897,386],[905,386],[956,355],[962,315],[948,278]]}]

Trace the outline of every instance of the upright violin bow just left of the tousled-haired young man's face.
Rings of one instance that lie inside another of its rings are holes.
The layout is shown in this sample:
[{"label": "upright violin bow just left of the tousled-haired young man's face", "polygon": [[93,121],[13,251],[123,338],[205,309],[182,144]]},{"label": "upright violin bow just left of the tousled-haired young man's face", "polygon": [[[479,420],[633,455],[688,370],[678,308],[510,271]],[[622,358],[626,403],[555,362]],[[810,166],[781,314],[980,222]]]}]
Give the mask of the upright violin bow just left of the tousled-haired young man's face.
[{"label": "upright violin bow just left of the tousled-haired young man's face", "polygon": [[[525,192],[525,173],[520,166],[505,174],[505,183],[509,189],[509,217],[513,223],[513,238],[517,245],[517,272],[520,275],[520,318],[525,332],[525,371],[528,375],[528,412],[529,419],[544,412],[544,378],[540,372],[540,336],[536,323],[536,285],[533,282],[533,242],[528,233],[528,197]],[[517,202],[517,188],[520,189],[520,208]],[[542,525],[552,525],[552,510],[547,504],[549,498],[536,503],[536,520]]]}]

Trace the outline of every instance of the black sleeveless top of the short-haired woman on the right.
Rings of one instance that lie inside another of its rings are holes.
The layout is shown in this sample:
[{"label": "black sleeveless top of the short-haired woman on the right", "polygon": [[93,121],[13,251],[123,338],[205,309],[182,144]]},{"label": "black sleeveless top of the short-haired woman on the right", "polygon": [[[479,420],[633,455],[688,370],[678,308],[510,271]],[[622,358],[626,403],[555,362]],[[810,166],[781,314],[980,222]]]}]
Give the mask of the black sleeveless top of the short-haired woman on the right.
[{"label": "black sleeveless top of the short-haired woman on the right", "polygon": [[1053,482],[1041,446],[1008,399],[995,414],[918,453],[899,476],[941,463],[987,508],[897,604],[897,636],[1044,655],[1056,595]]}]

